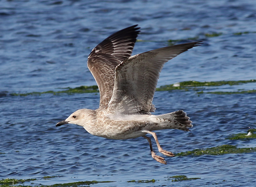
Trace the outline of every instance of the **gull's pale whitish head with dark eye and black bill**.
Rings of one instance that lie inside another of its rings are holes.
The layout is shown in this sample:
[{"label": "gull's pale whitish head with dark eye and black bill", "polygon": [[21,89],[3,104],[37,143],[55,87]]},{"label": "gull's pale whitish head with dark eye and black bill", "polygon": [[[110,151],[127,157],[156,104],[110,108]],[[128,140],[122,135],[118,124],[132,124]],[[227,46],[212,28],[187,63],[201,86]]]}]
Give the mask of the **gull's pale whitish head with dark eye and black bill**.
[{"label": "gull's pale whitish head with dark eye and black bill", "polygon": [[56,124],[56,127],[65,125],[68,123],[85,126],[87,121],[91,121],[94,117],[93,110],[90,109],[79,109],[72,113],[66,120],[60,121]]}]

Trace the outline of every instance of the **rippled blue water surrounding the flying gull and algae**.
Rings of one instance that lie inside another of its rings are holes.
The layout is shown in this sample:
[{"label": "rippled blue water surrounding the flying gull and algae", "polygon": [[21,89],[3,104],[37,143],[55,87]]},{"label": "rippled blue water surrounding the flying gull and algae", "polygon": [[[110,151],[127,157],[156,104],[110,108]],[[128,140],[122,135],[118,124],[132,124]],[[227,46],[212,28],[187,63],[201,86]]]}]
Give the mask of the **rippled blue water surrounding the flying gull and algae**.
[{"label": "rippled blue water surrounding the flying gull and algae", "polygon": [[[92,186],[255,186],[256,153],[164,156],[168,164],[163,165],[151,158],[142,137],[109,140],[76,125],[55,127],[79,108],[98,108],[99,94],[10,95],[95,85],[86,67],[88,54],[108,35],[135,24],[144,42],[136,43],[133,54],[164,47],[169,39],[204,41],[168,62],[158,87],[255,79],[255,10],[254,0],[0,1],[0,152],[5,153],[0,178],[37,178],[36,184],[49,185],[109,180],[116,182]],[[238,32],[243,34],[234,35]],[[255,83],[210,89],[252,90]],[[225,139],[256,128],[255,101],[255,94],[156,92],[156,114],[185,110],[194,125],[191,132],[157,131],[160,144],[174,153],[223,144],[256,147],[253,139]],[[58,177],[43,180],[47,175]],[[167,180],[173,175],[201,179]],[[151,179],[156,182],[126,183]]]}]

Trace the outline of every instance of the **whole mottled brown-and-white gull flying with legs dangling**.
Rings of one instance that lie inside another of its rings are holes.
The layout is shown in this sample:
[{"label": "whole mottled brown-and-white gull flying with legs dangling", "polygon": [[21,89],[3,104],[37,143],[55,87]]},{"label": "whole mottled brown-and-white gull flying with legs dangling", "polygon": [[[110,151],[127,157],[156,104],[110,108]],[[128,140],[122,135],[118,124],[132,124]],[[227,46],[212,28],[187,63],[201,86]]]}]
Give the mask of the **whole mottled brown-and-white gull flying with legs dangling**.
[{"label": "whole mottled brown-and-white gull flying with legs dangling", "polygon": [[163,157],[153,151],[151,134],[158,151],[166,156],[174,154],[162,149],[154,130],[180,129],[189,131],[190,118],[182,110],[152,115],[152,104],[159,73],[164,63],[200,42],[184,43],[131,56],[140,31],[137,25],[120,30],[92,49],[87,66],[100,91],[100,106],[96,110],[79,109],[56,127],[77,124],[95,136],[109,139],[144,137],[148,140],[152,157],[163,164]]}]

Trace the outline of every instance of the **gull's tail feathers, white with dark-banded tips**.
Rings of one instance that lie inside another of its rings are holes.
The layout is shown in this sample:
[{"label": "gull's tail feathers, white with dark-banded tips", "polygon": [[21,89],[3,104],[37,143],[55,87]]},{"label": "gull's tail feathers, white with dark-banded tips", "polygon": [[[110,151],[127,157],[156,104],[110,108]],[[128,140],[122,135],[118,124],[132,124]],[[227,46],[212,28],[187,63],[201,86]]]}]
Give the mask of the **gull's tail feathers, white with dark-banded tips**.
[{"label": "gull's tail feathers, white with dark-banded tips", "polygon": [[[190,131],[188,128],[193,127],[187,113],[179,110],[172,113],[157,115],[156,118],[160,120],[160,124],[166,125],[166,129],[180,129]],[[168,128],[169,127],[169,128]]]}]

